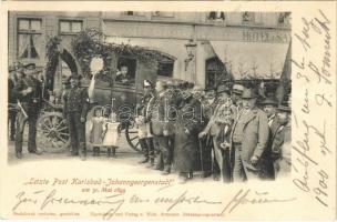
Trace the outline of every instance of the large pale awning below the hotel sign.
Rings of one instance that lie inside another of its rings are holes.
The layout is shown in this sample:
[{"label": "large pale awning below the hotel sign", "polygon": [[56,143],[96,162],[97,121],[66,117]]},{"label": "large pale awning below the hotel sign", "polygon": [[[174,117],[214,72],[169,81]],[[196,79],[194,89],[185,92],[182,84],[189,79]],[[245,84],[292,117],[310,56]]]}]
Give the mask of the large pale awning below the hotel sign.
[{"label": "large pale awning below the hotel sign", "polygon": [[214,52],[235,79],[279,79],[288,44],[211,41]]}]

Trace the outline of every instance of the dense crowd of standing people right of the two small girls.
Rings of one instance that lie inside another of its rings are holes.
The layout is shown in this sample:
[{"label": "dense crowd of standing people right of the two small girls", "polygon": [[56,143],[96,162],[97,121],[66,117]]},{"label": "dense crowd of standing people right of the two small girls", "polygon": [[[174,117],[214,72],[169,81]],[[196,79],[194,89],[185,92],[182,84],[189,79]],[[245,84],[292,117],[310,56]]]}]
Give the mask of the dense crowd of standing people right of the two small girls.
[{"label": "dense crowd of standing people right of the two small girls", "polygon": [[137,105],[140,164],[182,182],[213,175],[225,183],[275,180],[290,172],[289,97],[261,98],[255,88],[144,81]]}]

